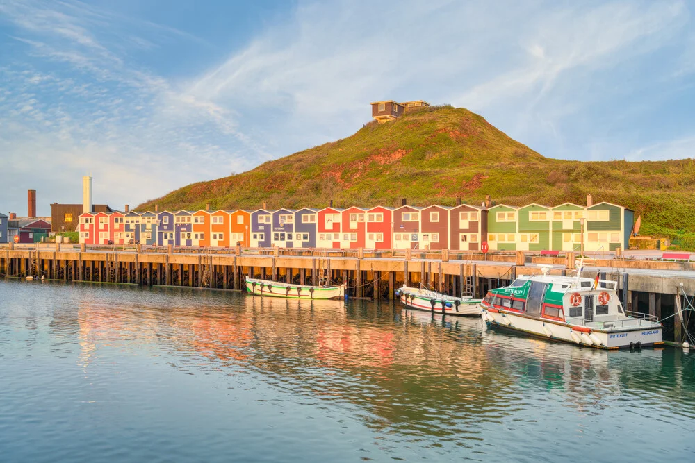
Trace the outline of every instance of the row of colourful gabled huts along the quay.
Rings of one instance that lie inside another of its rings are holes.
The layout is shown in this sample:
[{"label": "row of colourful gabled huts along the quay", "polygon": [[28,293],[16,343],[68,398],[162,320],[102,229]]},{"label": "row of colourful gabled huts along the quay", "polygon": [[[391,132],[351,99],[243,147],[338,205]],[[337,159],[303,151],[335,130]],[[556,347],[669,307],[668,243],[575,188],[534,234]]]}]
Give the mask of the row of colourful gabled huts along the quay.
[{"label": "row of colourful gabled huts along the quay", "polygon": [[[632,210],[611,203],[489,208],[461,204],[425,208],[98,212],[80,216],[80,242],[329,249],[587,251],[626,249]],[[583,222],[583,224],[582,224]],[[583,235],[583,237],[582,237]]]}]

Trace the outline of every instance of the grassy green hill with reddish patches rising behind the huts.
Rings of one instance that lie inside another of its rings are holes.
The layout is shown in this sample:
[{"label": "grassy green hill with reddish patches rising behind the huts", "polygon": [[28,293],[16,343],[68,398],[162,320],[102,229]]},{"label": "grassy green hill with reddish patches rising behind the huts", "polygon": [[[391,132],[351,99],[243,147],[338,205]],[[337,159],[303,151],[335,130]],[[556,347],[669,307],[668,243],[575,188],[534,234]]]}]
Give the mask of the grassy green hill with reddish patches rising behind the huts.
[{"label": "grassy green hill with reddish patches rising behind the huts", "polygon": [[641,214],[642,234],[695,248],[695,160],[580,162],[544,158],[483,117],[450,106],[370,123],[351,137],[265,162],[251,171],[194,183],[138,210],[325,207],[334,205],[557,205],[609,201]]}]

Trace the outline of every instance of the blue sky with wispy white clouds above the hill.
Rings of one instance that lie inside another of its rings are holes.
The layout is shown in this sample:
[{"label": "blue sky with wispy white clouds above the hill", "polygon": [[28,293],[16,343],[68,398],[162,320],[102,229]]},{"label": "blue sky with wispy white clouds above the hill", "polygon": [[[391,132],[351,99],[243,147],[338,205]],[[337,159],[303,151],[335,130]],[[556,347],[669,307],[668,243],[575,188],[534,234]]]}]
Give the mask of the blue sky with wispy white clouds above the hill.
[{"label": "blue sky with wispy white clouds above the hill", "polygon": [[0,0],[0,211],[122,210],[352,135],[477,112],[549,158],[694,156],[694,1]]}]

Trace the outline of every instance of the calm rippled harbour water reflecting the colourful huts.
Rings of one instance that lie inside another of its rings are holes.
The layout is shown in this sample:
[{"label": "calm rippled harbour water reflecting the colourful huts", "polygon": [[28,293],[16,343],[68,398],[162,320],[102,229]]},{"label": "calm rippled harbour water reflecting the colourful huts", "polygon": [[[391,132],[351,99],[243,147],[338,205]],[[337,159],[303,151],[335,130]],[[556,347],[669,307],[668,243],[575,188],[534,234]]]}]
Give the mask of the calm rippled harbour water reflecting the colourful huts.
[{"label": "calm rippled harbour water reflecting the colourful huts", "polygon": [[389,303],[0,280],[0,460],[692,462],[694,365]]}]

